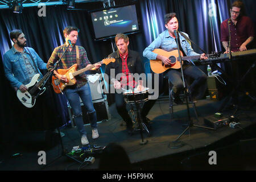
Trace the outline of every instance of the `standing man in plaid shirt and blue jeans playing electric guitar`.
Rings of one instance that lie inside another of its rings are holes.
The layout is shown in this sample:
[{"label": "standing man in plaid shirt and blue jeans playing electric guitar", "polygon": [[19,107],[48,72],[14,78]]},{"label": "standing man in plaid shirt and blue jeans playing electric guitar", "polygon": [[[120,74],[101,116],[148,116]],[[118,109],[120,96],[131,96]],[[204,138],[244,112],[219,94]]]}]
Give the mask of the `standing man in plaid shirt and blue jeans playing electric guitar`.
[{"label": "standing man in plaid shirt and blue jeans playing electric guitar", "polygon": [[[84,47],[75,46],[77,36],[79,34],[79,29],[77,27],[68,26],[64,29],[63,34],[65,37],[65,44],[54,49],[50,59],[48,60],[47,69],[51,70],[53,68],[53,65],[55,65],[56,61],[60,59],[68,46],[69,48],[61,58],[58,69],[68,69],[73,64],[77,64],[77,69],[82,69],[92,65],[88,60]],[[98,69],[100,66],[101,64],[96,64],[95,68]],[[56,71],[54,71],[53,74],[62,82],[68,81],[65,75],[60,75]],[[97,130],[96,111],[93,107],[90,86],[86,80],[85,73],[81,73],[80,75],[76,76],[76,81],[77,82],[75,85],[67,86],[67,88],[64,89],[64,93],[73,109],[73,118],[76,122],[77,130],[81,135],[81,143],[85,145],[89,144],[89,141],[86,137],[84,122],[82,120],[80,98],[90,119],[93,139],[99,137]]]}]

